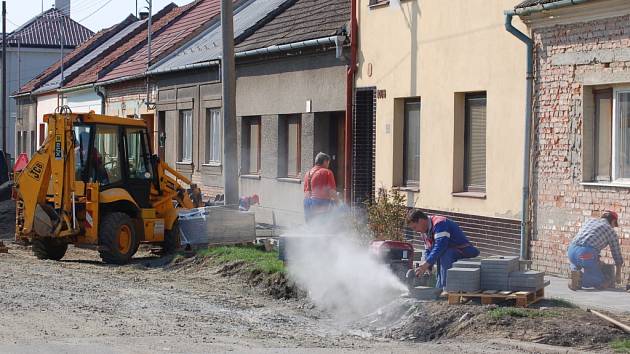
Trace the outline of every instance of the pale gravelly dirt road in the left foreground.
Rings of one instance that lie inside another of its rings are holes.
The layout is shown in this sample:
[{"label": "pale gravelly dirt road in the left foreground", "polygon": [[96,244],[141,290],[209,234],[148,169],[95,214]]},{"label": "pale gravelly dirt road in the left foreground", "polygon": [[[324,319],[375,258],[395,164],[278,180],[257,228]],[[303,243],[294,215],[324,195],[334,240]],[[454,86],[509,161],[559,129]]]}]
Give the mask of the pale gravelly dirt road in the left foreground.
[{"label": "pale gravelly dirt road in the left foreground", "polygon": [[70,248],[39,261],[0,254],[0,352],[566,352],[510,341],[425,343],[337,328],[306,301],[275,300],[206,267],[148,257],[107,266]]}]

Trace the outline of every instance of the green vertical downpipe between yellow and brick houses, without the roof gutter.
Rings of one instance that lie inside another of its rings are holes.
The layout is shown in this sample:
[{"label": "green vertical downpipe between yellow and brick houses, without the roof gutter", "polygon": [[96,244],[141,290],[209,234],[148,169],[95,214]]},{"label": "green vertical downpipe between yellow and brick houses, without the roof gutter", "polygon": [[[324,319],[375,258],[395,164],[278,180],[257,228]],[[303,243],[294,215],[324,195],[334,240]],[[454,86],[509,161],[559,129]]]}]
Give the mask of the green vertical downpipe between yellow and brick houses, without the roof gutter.
[{"label": "green vertical downpipe between yellow and brick houses, without the roof gutter", "polygon": [[505,29],[527,46],[527,85],[525,91],[525,146],[523,150],[523,195],[521,196],[521,259],[528,258],[529,176],[532,132],[532,90],[534,87],[534,42],[512,25],[512,13],[505,14]]}]

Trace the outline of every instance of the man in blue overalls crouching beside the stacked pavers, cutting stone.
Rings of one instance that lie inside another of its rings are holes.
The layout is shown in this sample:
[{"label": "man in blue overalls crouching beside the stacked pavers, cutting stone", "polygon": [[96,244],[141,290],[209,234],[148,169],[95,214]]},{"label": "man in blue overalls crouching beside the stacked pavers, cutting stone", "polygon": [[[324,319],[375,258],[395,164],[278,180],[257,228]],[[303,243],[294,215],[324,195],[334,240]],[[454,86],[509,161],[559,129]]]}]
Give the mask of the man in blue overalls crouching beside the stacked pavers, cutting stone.
[{"label": "man in blue overalls crouching beside the stacked pavers, cutting stone", "polygon": [[459,225],[443,216],[428,216],[420,210],[412,210],[407,215],[407,225],[424,239],[425,259],[416,269],[416,275],[423,275],[437,263],[436,288],[446,288],[446,274],[457,260],[479,256],[479,250]]}]

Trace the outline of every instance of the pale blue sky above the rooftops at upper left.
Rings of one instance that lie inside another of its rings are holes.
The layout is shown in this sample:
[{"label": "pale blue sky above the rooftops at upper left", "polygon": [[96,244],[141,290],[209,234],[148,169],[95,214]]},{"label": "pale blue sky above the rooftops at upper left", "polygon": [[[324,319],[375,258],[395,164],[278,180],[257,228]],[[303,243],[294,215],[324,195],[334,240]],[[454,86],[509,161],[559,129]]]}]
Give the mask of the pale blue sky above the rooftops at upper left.
[{"label": "pale blue sky above the rooftops at upper left", "polygon": [[[146,6],[147,0],[137,0],[138,7]],[[183,5],[193,0],[153,0],[153,12],[173,2]],[[7,32],[13,31],[42,11],[53,6],[54,0],[7,0]],[[101,8],[102,7],[102,8]],[[101,8],[99,10],[99,8]],[[71,16],[75,21],[96,32],[135,14],[136,0],[72,0]]]}]

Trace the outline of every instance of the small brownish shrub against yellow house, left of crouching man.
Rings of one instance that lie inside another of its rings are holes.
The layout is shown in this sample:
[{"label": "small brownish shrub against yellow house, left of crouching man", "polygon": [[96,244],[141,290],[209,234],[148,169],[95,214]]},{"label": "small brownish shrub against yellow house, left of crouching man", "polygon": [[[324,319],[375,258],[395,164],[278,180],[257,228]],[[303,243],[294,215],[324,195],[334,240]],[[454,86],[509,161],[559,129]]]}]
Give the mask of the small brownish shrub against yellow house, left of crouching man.
[{"label": "small brownish shrub against yellow house, left of crouching man", "polygon": [[407,207],[397,189],[380,188],[376,198],[366,204],[368,226],[375,240],[404,241]]}]

